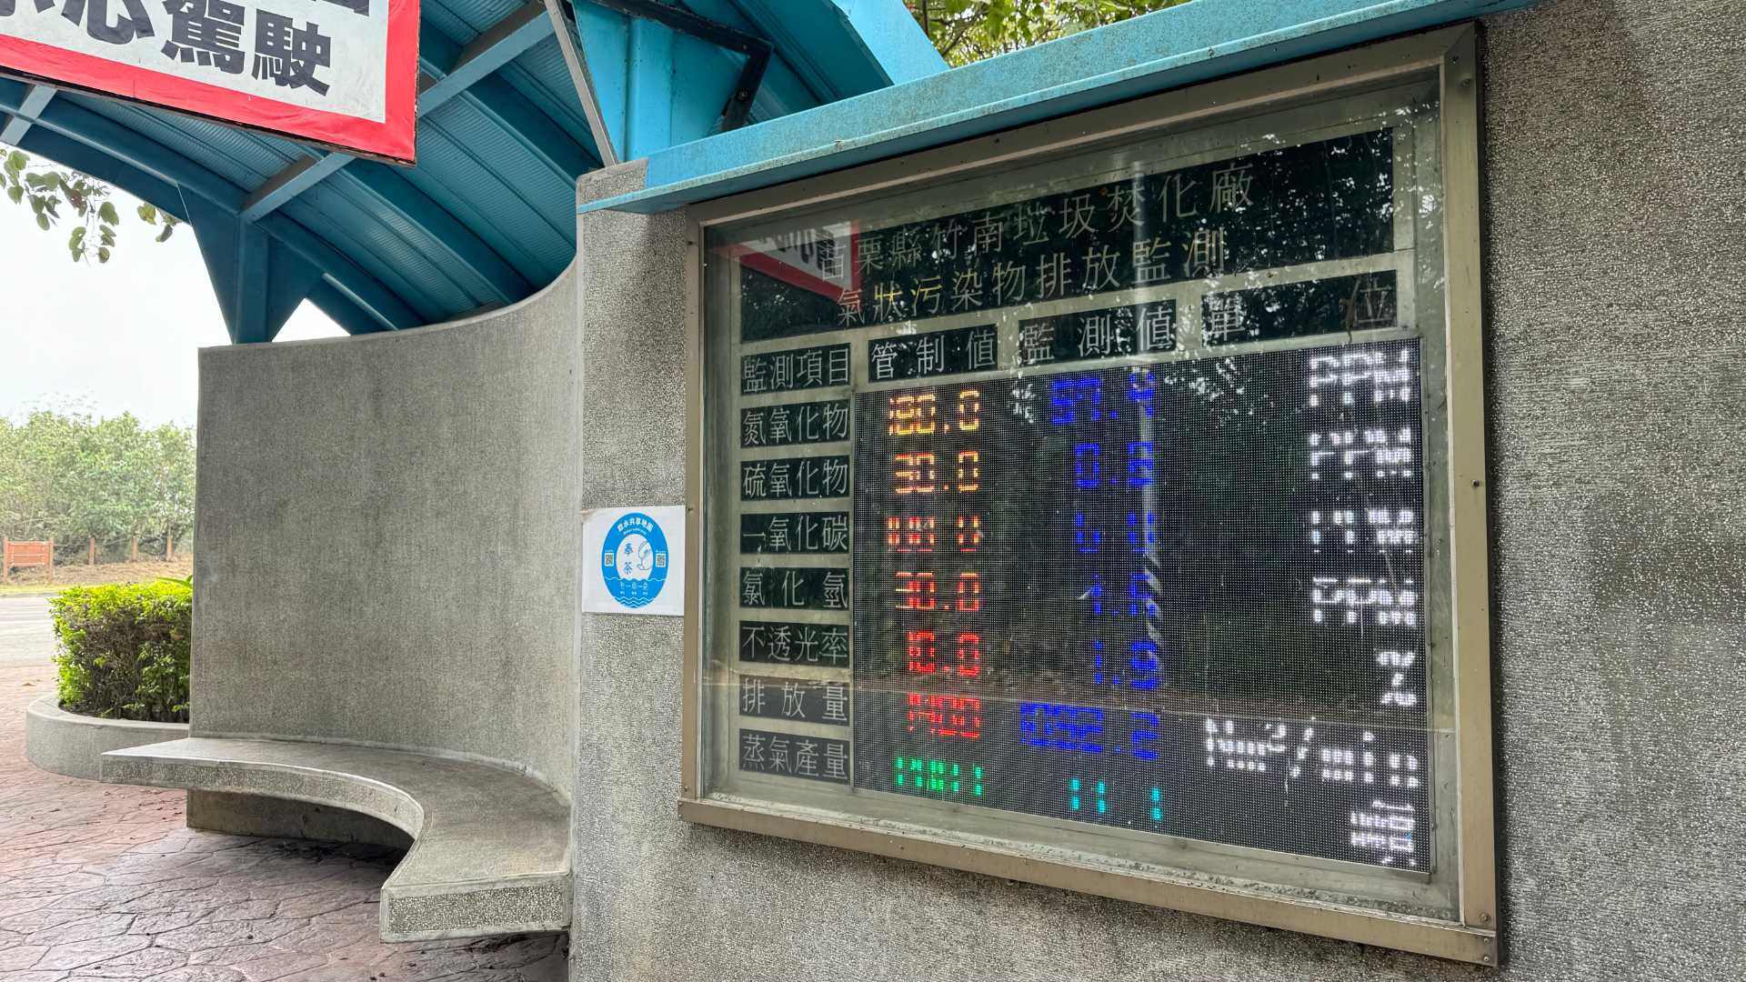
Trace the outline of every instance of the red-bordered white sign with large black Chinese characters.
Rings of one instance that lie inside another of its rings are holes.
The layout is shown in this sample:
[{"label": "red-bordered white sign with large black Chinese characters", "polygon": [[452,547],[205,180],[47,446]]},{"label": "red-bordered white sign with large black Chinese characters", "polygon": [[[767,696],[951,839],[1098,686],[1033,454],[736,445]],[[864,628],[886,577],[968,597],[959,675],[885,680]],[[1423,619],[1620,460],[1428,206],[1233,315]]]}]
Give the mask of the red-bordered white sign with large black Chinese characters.
[{"label": "red-bordered white sign with large black Chinese characters", "polygon": [[417,0],[0,0],[0,72],[412,163]]}]

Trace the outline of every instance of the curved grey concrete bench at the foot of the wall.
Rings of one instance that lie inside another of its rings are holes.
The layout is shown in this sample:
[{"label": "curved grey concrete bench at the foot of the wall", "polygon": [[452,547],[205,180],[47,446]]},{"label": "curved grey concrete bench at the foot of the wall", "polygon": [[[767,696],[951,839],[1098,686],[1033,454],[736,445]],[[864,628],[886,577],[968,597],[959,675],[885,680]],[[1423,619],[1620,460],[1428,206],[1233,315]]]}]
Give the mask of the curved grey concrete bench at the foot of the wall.
[{"label": "curved grey concrete bench at the foot of the wall", "polygon": [[569,928],[569,806],[512,771],[398,750],[190,737],[103,755],[103,781],[292,799],[412,837],[382,884],[382,940]]}]

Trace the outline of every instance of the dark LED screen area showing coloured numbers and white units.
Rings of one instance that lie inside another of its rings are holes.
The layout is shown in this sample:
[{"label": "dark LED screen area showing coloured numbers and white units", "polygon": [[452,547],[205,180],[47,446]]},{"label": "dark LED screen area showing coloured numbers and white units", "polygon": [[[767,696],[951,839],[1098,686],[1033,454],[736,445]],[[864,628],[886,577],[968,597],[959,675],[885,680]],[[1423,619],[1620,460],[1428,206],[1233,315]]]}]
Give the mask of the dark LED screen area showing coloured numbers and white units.
[{"label": "dark LED screen area showing coloured numbers and white units", "polygon": [[1418,360],[857,395],[856,786],[1428,865]]}]

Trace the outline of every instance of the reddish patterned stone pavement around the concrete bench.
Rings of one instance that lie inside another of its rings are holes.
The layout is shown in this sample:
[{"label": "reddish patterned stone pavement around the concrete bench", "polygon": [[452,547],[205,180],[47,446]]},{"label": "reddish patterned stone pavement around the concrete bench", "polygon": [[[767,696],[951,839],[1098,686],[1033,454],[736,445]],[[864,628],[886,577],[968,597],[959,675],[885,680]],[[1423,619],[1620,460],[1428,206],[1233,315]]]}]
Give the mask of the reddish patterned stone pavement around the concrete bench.
[{"label": "reddish patterned stone pavement around the concrete bench", "polygon": [[557,982],[564,935],[388,945],[398,853],[194,832],[182,792],[37,771],[44,664],[0,664],[0,980]]}]

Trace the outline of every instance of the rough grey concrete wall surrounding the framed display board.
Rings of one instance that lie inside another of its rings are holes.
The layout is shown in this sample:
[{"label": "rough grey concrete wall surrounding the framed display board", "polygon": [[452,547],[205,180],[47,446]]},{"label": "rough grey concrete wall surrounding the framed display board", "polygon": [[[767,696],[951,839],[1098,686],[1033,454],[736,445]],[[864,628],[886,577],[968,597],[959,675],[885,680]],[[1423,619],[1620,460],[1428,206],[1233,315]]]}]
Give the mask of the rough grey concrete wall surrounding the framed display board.
[{"label": "rough grey concrete wall surrounding the framed display board", "polygon": [[[583,615],[571,977],[1746,975],[1743,26],[1732,0],[1488,24],[1502,972],[684,825],[681,624]],[[681,498],[683,234],[583,217],[590,379],[639,379],[590,386],[583,453],[616,463],[583,507]]]}]

